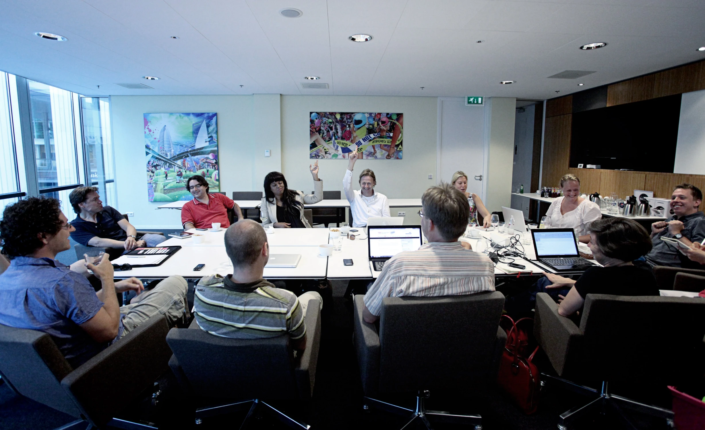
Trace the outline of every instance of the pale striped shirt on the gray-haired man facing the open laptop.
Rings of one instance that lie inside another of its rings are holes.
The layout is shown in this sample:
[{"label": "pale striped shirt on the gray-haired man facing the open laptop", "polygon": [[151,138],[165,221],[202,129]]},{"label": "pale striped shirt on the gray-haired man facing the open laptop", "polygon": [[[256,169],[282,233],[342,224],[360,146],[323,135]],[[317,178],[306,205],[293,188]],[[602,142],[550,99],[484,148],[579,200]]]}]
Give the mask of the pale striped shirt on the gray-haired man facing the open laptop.
[{"label": "pale striped shirt on the gray-haired man facing the open laptop", "polygon": [[429,242],[390,258],[364,295],[364,305],[379,317],[382,299],[402,296],[461,296],[494,291],[494,264],[460,242]]}]

